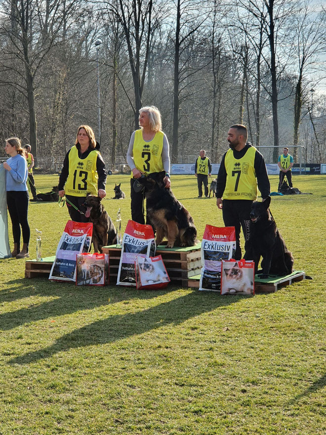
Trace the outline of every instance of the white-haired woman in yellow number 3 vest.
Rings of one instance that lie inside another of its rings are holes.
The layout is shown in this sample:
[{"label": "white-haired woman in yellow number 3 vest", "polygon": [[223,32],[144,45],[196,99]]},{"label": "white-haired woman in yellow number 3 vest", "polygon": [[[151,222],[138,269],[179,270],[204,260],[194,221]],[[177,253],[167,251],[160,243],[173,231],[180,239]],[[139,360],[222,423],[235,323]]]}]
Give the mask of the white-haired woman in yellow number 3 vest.
[{"label": "white-haired woman in yellow number 3 vest", "polygon": [[[155,106],[142,107],[139,110],[139,126],[140,129],[130,137],[127,163],[131,169],[131,218],[144,224],[146,190],[137,182],[137,178],[165,171],[165,187],[170,187],[170,158],[159,109]],[[150,223],[148,219],[146,223]]]}]

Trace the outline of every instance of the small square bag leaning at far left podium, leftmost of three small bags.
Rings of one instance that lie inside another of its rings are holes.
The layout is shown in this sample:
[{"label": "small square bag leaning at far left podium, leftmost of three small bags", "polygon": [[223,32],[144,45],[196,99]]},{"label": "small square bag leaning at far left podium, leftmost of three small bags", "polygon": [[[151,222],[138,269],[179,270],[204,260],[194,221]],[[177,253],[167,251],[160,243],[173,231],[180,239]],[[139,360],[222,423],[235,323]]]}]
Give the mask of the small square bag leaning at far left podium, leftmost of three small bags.
[{"label": "small square bag leaning at far left podium, leftmost of three small bags", "polygon": [[77,254],[76,285],[109,284],[108,254]]}]

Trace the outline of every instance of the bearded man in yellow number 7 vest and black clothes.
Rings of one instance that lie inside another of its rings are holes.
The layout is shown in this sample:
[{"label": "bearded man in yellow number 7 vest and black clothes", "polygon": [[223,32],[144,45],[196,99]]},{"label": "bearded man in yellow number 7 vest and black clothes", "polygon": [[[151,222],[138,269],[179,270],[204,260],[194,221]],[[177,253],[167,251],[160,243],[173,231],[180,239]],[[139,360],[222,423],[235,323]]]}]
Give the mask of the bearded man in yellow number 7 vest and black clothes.
[{"label": "bearded man in yellow number 7 vest and black clothes", "polygon": [[228,131],[230,149],[222,157],[217,175],[216,205],[222,210],[225,226],[236,229],[235,260],[241,260],[240,228],[244,233],[244,258],[252,260],[250,244],[250,210],[257,199],[257,183],[263,201],[270,194],[270,183],[263,156],[247,142],[245,126],[236,124]]}]

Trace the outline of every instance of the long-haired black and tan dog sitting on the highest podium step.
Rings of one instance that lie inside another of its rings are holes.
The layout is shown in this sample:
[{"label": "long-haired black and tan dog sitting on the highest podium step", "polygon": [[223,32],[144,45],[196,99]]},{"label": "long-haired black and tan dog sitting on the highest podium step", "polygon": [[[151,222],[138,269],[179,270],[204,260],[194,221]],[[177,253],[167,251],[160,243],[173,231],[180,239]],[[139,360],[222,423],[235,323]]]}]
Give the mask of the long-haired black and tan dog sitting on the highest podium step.
[{"label": "long-haired black and tan dog sitting on the highest podium step", "polygon": [[194,246],[198,242],[194,220],[188,210],[176,199],[170,188],[166,189],[165,172],[138,178],[146,189],[147,215],[156,230],[156,244],[167,238],[167,248]]}]

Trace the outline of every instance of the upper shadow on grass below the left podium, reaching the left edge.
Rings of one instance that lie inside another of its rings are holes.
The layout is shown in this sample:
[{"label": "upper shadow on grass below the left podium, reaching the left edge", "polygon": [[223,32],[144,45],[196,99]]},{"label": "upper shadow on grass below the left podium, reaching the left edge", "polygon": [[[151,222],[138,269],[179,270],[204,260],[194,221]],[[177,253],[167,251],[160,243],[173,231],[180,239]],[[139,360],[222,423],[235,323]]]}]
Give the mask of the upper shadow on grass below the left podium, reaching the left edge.
[{"label": "upper shadow on grass below the left podium, reaching the left edge", "polygon": [[110,304],[116,304],[132,299],[152,299],[174,291],[173,288],[167,288],[164,291],[138,292],[126,287],[117,289],[110,286],[75,286],[73,283],[55,283],[45,279],[34,281],[33,285],[28,285],[29,279],[8,282],[8,284],[14,283],[19,283],[19,286],[13,286],[0,292],[1,302],[12,302],[37,296],[41,298],[56,297],[56,299],[43,303],[34,303],[31,299],[29,306],[1,314],[0,329],[2,331],[49,317],[72,314],[82,309],[107,305],[108,298],[110,298]]}]

